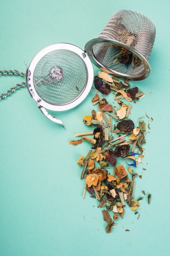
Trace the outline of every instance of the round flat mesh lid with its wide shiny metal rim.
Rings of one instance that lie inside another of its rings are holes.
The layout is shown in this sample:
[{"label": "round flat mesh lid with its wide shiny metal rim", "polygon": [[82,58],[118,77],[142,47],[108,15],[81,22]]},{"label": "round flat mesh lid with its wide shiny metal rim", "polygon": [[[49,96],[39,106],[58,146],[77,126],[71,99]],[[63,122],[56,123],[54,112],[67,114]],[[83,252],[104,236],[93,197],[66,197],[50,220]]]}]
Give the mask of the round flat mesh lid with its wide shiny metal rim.
[{"label": "round flat mesh lid with its wide shiny metal rim", "polygon": [[68,110],[81,103],[93,80],[93,65],[85,51],[68,43],[42,49],[26,74],[31,97],[40,106],[54,111]]}]

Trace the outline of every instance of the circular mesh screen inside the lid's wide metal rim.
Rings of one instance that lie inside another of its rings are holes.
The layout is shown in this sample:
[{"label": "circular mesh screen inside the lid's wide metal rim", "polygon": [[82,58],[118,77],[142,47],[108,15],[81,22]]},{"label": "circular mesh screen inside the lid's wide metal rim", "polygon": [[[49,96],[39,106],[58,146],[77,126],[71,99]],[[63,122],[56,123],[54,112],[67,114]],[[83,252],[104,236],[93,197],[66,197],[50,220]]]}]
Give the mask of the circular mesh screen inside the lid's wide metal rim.
[{"label": "circular mesh screen inside the lid's wide metal rim", "polygon": [[33,83],[37,94],[48,103],[61,105],[74,101],[84,90],[87,70],[78,54],[58,49],[37,63]]}]

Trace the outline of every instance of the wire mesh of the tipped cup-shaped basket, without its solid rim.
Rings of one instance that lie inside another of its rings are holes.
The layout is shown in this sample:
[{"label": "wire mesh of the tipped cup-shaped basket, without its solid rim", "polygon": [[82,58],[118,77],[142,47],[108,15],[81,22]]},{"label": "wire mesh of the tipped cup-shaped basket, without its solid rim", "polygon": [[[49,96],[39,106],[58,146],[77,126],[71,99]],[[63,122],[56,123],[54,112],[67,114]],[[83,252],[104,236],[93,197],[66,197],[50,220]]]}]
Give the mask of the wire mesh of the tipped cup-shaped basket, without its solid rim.
[{"label": "wire mesh of the tipped cup-shaped basket, without its solid rim", "polygon": [[155,34],[155,25],[148,17],[130,10],[116,11],[98,38],[108,38],[124,43],[129,50],[113,43],[96,43],[93,46],[94,56],[100,63],[116,72],[129,75],[140,74],[144,71],[144,65],[131,53],[131,49],[142,54],[148,61]]}]

